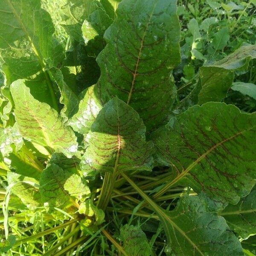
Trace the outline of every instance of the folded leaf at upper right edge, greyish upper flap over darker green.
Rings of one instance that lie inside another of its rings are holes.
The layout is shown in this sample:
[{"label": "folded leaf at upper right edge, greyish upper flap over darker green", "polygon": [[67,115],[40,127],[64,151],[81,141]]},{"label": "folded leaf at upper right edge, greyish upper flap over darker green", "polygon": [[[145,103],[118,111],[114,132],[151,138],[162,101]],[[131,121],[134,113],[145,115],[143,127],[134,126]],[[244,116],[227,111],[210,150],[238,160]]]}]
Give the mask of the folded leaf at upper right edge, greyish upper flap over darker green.
[{"label": "folded leaf at upper right edge, greyish upper flap over darker green", "polygon": [[256,45],[242,44],[226,58],[199,68],[202,89],[198,104],[221,101],[231,87],[235,70],[246,70],[251,59],[256,58]]}]

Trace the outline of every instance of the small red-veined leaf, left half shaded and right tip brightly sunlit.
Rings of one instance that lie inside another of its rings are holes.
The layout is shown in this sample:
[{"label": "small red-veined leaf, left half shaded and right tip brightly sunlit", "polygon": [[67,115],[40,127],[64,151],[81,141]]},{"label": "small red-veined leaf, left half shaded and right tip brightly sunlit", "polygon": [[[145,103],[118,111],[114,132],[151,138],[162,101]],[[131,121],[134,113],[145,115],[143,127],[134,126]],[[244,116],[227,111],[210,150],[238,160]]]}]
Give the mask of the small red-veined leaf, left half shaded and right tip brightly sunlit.
[{"label": "small red-veined leaf, left half shaded and right tip brightly sunlit", "polygon": [[83,195],[88,195],[90,189],[79,175],[50,163],[41,174],[40,193],[44,203],[47,202],[50,207],[59,207],[66,204],[70,196],[81,199]]}]

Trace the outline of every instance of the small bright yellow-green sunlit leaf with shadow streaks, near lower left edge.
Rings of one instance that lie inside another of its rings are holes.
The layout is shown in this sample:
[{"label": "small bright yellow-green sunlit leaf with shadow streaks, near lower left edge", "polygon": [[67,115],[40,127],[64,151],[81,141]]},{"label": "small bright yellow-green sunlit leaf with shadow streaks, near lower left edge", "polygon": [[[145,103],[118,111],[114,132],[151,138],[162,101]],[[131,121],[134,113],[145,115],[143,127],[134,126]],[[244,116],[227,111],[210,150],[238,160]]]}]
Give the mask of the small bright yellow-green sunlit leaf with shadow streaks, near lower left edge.
[{"label": "small bright yellow-green sunlit leaf with shadow streaks, near lower left edge", "polygon": [[7,181],[9,186],[12,186],[11,192],[17,195],[26,207],[34,210],[42,205],[37,180],[8,172]]}]

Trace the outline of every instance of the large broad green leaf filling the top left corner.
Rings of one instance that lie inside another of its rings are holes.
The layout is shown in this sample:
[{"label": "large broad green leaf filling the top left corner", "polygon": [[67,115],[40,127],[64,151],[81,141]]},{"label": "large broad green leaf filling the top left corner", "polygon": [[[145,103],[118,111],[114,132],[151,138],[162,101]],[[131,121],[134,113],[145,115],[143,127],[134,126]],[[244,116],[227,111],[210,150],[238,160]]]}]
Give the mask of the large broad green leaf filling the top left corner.
[{"label": "large broad green leaf filling the top left corner", "polygon": [[0,0],[0,6],[0,56],[9,84],[43,70],[45,61],[57,65],[63,60],[63,49],[52,37],[51,17],[40,0]]}]

